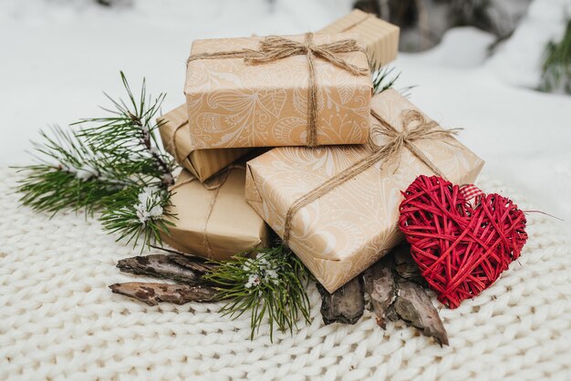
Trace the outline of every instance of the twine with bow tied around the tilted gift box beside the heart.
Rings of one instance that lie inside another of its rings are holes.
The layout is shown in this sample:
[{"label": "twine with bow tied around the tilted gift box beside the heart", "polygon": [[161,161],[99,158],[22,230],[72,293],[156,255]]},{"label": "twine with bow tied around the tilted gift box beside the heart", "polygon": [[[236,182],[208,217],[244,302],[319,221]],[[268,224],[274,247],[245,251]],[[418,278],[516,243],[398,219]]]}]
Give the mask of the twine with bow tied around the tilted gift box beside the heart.
[{"label": "twine with bow tied around the tilted gift box beside the heart", "polygon": [[[458,129],[438,129],[438,123],[433,120],[426,120],[424,116],[417,110],[405,110],[402,115],[402,130],[395,129],[379,114],[371,110],[371,115],[379,121],[379,125],[371,128],[371,136],[379,134],[389,138],[389,141],[383,146],[377,145],[372,139],[369,139],[369,146],[373,153],[361,160],[358,160],[346,170],[337,173],[336,176],[326,180],[314,190],[310,190],[305,195],[298,198],[290,206],[285,214],[284,223],[284,242],[289,241],[289,234],[294,215],[297,211],[306,207],[310,203],[317,201],[320,197],[326,195],[329,191],[336,189],[339,185],[347,180],[353,179],[361,172],[369,169],[380,160],[389,160],[391,158],[399,158],[399,162],[395,171],[400,167],[400,156],[402,149],[409,149],[414,156],[426,164],[435,174],[445,179],[441,170],[439,170],[430,159],[420,151],[412,142],[424,139],[443,139],[456,135]],[[447,142],[452,144],[450,142]],[[453,144],[452,144],[453,145]]]}]

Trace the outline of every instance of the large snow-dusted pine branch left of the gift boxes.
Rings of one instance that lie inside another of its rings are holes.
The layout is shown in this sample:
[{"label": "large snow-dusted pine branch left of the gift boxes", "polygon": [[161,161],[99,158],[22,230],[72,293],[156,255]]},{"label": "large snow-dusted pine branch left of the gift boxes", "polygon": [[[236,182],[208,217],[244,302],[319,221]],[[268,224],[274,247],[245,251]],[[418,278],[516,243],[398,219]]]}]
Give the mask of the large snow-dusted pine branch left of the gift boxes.
[{"label": "large snow-dusted pine branch left of the gift boxes", "polygon": [[172,216],[166,210],[175,162],[160,149],[154,122],[165,96],[149,97],[143,79],[136,97],[120,76],[129,100],[106,94],[108,115],[82,119],[72,124],[76,129],[42,132],[43,141],[35,144],[38,162],[19,168],[26,178],[17,190],[36,211],[100,211],[103,227],[119,240],[136,245],[142,239],[149,246],[173,225],[165,217]]}]

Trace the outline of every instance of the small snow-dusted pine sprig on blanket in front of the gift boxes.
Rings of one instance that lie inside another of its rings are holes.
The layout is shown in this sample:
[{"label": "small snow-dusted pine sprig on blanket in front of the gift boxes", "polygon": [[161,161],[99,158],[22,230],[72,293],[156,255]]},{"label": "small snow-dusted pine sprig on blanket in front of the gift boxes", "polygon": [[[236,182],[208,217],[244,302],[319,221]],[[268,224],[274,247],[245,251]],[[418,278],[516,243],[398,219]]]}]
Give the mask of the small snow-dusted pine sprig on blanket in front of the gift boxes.
[{"label": "small snow-dusted pine sprig on blanket in front of the gift boxes", "polygon": [[221,298],[228,300],[222,313],[236,318],[250,311],[251,339],[265,319],[271,341],[275,326],[293,333],[300,315],[309,323],[305,285],[310,275],[304,264],[283,244],[249,254],[249,258],[238,255],[232,261],[217,263],[219,267],[205,275],[218,284]]}]

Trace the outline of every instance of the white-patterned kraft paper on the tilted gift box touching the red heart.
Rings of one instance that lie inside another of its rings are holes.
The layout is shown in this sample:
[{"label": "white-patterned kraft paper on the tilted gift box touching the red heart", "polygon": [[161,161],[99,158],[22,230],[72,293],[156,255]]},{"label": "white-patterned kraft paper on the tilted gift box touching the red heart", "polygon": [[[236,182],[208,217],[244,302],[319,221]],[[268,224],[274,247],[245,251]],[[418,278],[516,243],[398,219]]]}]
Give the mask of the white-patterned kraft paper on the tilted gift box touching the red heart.
[{"label": "white-patterned kraft paper on the tilted gift box touching the red heart", "polygon": [[[398,130],[401,112],[418,110],[394,90],[375,96],[371,107]],[[371,117],[373,124],[378,122]],[[382,144],[383,139],[376,141]],[[448,140],[454,145],[440,140],[414,144],[453,183],[471,183],[483,160],[457,140]],[[248,161],[246,200],[283,237],[285,215],[294,201],[368,154],[365,145],[271,149]],[[401,241],[400,190],[418,175],[433,173],[408,149],[397,169],[398,161],[377,163],[294,215],[289,245],[330,293]]]}]

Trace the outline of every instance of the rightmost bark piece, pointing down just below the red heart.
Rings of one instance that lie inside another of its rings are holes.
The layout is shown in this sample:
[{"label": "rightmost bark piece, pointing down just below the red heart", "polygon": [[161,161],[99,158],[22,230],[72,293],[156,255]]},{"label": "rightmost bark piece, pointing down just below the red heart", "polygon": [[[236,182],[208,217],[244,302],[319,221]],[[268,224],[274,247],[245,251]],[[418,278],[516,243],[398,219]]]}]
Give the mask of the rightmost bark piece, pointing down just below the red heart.
[{"label": "rightmost bark piece, pointing down just below the red heart", "polygon": [[410,281],[399,283],[394,309],[406,323],[421,329],[424,335],[434,337],[441,345],[448,345],[444,324],[420,284]]}]

